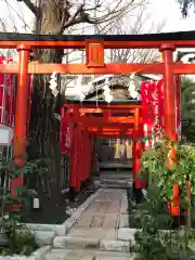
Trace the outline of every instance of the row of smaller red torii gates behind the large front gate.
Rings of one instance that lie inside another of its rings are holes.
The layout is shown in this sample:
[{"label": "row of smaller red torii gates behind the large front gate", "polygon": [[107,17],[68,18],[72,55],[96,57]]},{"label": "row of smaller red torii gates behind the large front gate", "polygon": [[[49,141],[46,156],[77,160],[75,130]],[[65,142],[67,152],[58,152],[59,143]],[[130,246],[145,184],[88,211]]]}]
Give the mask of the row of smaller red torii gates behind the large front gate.
[{"label": "row of smaller red torii gates behind the large front gate", "polygon": [[[81,105],[64,104],[61,110],[62,126],[65,120],[69,126],[72,125],[73,131],[70,193],[79,192],[80,183],[90,179],[94,135],[133,139],[133,179],[136,188],[143,186],[142,181],[136,178],[143,151],[142,139],[144,136],[141,116],[142,105],[139,103],[134,101],[114,102],[112,104],[100,102],[99,107],[96,107],[96,102],[93,102],[93,104],[83,102]],[[61,131],[65,131],[65,129]],[[141,139],[141,142],[139,139]],[[61,142],[65,142],[65,140],[62,139]],[[84,153],[86,150],[88,153]]]}]

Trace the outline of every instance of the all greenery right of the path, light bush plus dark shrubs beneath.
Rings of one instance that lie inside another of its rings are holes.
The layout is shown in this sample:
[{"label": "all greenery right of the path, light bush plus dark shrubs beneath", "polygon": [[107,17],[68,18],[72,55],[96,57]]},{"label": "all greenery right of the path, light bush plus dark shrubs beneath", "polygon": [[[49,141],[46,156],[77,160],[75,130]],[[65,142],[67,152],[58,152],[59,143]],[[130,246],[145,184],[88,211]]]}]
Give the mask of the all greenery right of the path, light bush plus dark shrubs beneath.
[{"label": "all greenery right of the path, light bush plus dark shrubs beneath", "polygon": [[[168,168],[170,150],[174,148],[174,165]],[[188,208],[186,181],[191,181],[191,193],[195,195],[195,150],[181,146],[164,136],[142,156],[140,173],[147,173],[147,200],[139,206],[136,219],[141,229],[134,234],[133,250],[136,260],[188,260],[193,251],[191,243],[194,232],[179,226],[173,230],[173,217],[168,212],[172,199],[173,183],[181,192],[181,209]],[[193,256],[194,257],[194,256]]]}]

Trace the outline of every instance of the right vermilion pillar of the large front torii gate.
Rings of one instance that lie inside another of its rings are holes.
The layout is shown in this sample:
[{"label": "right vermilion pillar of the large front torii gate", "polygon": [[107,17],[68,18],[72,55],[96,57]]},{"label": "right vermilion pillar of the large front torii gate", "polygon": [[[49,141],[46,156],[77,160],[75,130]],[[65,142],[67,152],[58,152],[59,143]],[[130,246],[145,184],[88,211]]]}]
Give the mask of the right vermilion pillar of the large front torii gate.
[{"label": "right vermilion pillar of the large front torii gate", "polygon": [[[174,83],[174,75],[172,72],[173,64],[173,51],[176,50],[172,44],[162,44],[160,51],[162,52],[162,58],[165,63],[165,74],[164,74],[164,128],[165,135],[170,138],[171,141],[178,140],[177,134],[177,89]],[[170,150],[168,167],[174,164],[173,158],[176,157],[176,151],[173,147]],[[170,212],[172,214],[180,213],[179,205],[179,186],[176,182],[173,184],[173,200],[170,205]]]}]

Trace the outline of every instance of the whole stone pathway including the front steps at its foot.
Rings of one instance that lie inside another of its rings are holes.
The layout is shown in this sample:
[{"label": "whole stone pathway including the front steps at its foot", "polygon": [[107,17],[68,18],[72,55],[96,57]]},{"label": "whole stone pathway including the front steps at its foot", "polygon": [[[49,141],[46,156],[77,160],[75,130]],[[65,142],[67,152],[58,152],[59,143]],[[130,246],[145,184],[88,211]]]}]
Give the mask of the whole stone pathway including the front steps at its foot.
[{"label": "whole stone pathway including the front steps at its foot", "polygon": [[[54,243],[47,260],[127,260],[131,259],[129,243],[117,240],[123,190],[105,188],[82,212],[66,236]],[[118,249],[119,248],[119,249]]]}]

